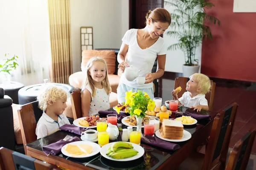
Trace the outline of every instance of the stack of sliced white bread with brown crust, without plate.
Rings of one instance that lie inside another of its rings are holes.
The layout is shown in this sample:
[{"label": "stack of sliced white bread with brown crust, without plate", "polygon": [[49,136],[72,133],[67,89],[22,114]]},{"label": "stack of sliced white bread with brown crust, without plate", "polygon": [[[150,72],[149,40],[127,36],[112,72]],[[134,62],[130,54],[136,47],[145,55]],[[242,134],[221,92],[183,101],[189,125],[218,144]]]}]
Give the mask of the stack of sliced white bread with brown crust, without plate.
[{"label": "stack of sliced white bread with brown crust, without plate", "polygon": [[183,130],[181,121],[163,119],[160,133],[166,139],[181,139],[183,137]]}]

